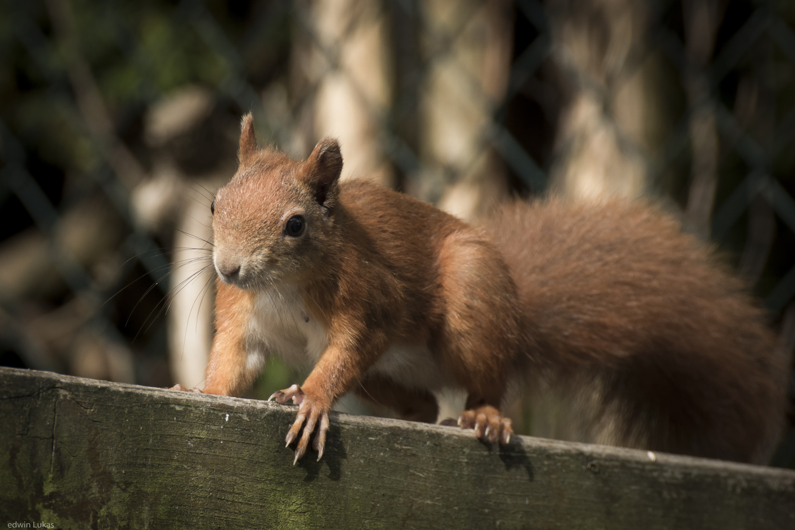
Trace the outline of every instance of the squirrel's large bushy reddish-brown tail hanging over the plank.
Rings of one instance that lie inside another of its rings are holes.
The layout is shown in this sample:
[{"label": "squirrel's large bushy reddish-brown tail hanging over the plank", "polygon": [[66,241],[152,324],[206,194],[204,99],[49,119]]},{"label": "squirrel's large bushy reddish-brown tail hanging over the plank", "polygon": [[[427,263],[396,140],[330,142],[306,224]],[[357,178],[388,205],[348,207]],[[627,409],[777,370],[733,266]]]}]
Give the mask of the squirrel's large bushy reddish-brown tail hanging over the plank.
[{"label": "squirrel's large bushy reddish-brown tail hanging over the plank", "polygon": [[514,203],[483,230],[512,270],[537,372],[587,388],[588,441],[767,462],[786,358],[712,246],[622,199]]}]

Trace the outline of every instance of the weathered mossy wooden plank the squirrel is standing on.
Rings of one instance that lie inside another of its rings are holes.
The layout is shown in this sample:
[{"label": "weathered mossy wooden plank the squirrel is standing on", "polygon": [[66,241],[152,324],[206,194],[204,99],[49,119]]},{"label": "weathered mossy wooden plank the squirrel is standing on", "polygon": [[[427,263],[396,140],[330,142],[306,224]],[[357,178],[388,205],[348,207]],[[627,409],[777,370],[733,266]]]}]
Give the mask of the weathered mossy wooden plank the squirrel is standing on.
[{"label": "weathered mossy wooden plank the squirrel is standing on", "polygon": [[0,524],[56,528],[795,528],[795,472],[0,368]]}]

